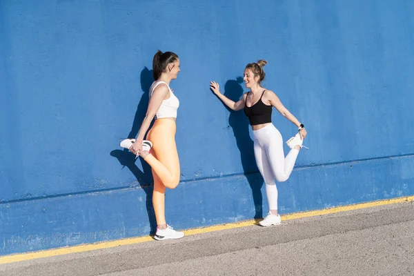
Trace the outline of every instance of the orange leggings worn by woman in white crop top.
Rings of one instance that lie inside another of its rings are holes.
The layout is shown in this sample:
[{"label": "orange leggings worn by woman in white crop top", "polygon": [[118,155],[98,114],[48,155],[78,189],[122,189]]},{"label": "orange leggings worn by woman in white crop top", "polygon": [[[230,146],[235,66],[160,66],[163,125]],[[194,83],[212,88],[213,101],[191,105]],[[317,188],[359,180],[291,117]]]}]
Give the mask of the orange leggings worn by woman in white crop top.
[{"label": "orange leggings worn by woman in white crop top", "polygon": [[147,140],[152,142],[151,154],[145,161],[152,168],[154,177],[154,206],[157,225],[166,224],[165,193],[166,188],[175,188],[179,183],[179,159],[175,144],[175,121],[172,119],[156,119],[148,132]]}]

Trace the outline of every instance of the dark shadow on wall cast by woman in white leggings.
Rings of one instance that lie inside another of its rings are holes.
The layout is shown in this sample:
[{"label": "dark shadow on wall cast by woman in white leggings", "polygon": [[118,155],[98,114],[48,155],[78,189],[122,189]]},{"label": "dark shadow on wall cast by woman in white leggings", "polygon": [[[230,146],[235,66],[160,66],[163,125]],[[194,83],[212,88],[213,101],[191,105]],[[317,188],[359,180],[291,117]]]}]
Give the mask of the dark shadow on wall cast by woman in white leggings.
[{"label": "dark shadow on wall cast by woman in white leggings", "polygon": [[[229,79],[224,85],[224,95],[228,99],[238,101],[242,98],[243,88],[240,85],[243,83],[242,77],[237,79]],[[227,108],[227,106],[226,106]],[[263,198],[262,198],[262,178],[257,178],[257,165],[255,161],[255,152],[253,150],[253,140],[250,138],[250,124],[243,110],[230,111],[230,117],[228,118],[228,124],[233,129],[235,135],[237,148],[240,151],[240,159],[242,160],[242,167],[244,175],[248,180],[248,184],[252,189],[253,202],[255,204],[255,219],[262,218],[263,216]]]}]

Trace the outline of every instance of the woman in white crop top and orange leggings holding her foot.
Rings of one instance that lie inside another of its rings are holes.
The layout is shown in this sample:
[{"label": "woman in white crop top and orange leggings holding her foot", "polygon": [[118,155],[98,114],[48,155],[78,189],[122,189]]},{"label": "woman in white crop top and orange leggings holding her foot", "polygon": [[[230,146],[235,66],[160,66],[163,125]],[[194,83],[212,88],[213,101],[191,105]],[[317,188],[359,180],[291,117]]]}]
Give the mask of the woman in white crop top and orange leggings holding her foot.
[{"label": "woman in white crop top and orange leggings holding her foot", "polygon": [[[170,89],[170,81],[177,79],[179,59],[173,52],[155,54],[152,61],[154,83],[150,87],[150,101],[146,117],[142,122],[137,139],[126,139],[121,146],[129,148],[135,155],[139,155],[151,166],[154,177],[154,193],[152,204],[157,219],[155,239],[179,239],[184,233],[178,232],[168,224],[165,217],[166,188],[173,189],[179,183],[179,159],[175,145],[175,119],[179,100]],[[154,125],[144,140],[146,131],[152,119]]]}]

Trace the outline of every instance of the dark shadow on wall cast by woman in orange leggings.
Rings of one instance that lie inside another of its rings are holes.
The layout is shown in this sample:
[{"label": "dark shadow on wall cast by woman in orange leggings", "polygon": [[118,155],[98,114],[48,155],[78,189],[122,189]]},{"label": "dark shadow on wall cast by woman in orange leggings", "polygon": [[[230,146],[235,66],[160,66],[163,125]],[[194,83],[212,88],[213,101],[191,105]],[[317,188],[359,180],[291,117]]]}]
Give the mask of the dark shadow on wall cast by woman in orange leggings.
[{"label": "dark shadow on wall cast by woman in orange leggings", "polygon": [[[143,92],[143,95],[139,100],[134,121],[132,121],[131,130],[127,138],[136,138],[139,128],[141,128],[142,121],[144,121],[144,117],[148,108],[148,92],[150,90],[152,81],[154,81],[152,78],[152,70],[148,70],[148,68],[145,67],[141,71],[141,90]],[[148,130],[150,130],[150,128],[148,128]],[[135,155],[133,155],[132,152],[127,149],[112,150],[112,152],[110,152],[110,155],[112,157],[116,157],[122,166],[127,167],[132,172],[132,174],[135,175],[139,186],[141,186],[141,188],[146,193],[146,209],[151,227],[150,235],[154,234],[155,230],[157,229],[157,221],[155,221],[154,208],[152,207],[152,185],[154,184],[154,180],[152,179],[151,167],[141,157],[135,159]],[[140,170],[138,166],[135,165],[135,161],[137,160],[141,161],[141,167],[143,170]]]}]

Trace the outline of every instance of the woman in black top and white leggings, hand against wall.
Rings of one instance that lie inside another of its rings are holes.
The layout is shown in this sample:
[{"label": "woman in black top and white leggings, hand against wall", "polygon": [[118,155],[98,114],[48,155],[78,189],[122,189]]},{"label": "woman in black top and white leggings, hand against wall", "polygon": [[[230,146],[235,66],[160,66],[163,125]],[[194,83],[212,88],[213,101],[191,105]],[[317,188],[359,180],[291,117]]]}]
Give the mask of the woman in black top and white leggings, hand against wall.
[{"label": "woman in black top and white leggings, hand against wall", "polygon": [[[219,84],[210,82],[210,88],[215,95],[232,110],[242,110],[248,119],[253,130],[255,157],[257,167],[266,184],[266,195],[269,204],[269,213],[265,219],[259,222],[262,226],[280,224],[280,216],[277,214],[277,187],[278,182],[286,181],[295,166],[299,150],[302,148],[303,139],[306,137],[306,129],[295,116],[293,116],[282,104],[279,98],[271,90],[260,86],[265,77],[263,66],[266,61],[263,59],[257,63],[249,63],[244,69],[244,83],[250,91],[244,93],[242,99],[235,102],[222,95]],[[283,139],[279,130],[272,124],[273,106],[286,119],[295,124],[299,130],[297,135],[286,141],[290,151],[286,157],[283,150]]]}]

